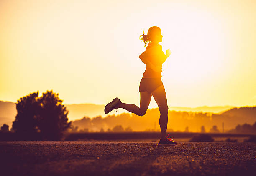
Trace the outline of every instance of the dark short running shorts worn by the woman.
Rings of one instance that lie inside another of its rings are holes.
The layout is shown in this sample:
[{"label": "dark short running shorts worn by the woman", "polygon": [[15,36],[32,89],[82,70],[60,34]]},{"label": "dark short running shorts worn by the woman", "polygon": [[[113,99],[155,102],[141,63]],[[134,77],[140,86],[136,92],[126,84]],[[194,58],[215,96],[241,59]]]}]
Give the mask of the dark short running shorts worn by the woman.
[{"label": "dark short running shorts worn by the woman", "polygon": [[153,92],[156,88],[163,85],[160,78],[142,78],[140,82],[139,92]]}]

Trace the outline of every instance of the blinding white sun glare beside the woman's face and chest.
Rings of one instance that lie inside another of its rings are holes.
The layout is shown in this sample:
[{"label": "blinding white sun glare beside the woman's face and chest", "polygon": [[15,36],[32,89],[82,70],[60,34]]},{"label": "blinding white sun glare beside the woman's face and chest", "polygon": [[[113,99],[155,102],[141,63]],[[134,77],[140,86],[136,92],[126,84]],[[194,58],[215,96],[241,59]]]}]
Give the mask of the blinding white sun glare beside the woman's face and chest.
[{"label": "blinding white sun glare beside the woman's face and chest", "polygon": [[[189,12],[188,12],[189,13]],[[163,77],[187,84],[214,79],[225,69],[223,45],[227,41],[222,26],[200,12],[178,15],[171,24],[161,23],[163,51],[172,54],[163,64]],[[174,76],[175,75],[175,76]]]}]

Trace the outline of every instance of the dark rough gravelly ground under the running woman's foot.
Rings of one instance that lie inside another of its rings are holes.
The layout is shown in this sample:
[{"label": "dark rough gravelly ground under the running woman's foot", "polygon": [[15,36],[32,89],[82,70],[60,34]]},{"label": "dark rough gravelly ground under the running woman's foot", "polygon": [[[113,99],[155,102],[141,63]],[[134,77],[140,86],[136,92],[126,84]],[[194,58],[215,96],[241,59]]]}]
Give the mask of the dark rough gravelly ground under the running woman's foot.
[{"label": "dark rough gravelly ground under the running woman's foot", "polygon": [[0,142],[3,176],[256,175],[255,143]]}]

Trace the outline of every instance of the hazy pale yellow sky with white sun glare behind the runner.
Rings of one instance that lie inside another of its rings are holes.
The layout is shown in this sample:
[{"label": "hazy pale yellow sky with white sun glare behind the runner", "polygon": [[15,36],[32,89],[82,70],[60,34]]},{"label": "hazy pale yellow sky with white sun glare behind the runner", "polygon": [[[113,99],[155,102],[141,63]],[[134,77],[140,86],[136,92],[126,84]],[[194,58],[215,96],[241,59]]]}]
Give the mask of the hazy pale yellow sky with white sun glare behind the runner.
[{"label": "hazy pale yellow sky with white sun glare behind the runner", "polygon": [[1,0],[0,100],[52,89],[64,104],[139,105],[139,35],[159,26],[169,106],[253,106],[255,19],[254,0]]}]

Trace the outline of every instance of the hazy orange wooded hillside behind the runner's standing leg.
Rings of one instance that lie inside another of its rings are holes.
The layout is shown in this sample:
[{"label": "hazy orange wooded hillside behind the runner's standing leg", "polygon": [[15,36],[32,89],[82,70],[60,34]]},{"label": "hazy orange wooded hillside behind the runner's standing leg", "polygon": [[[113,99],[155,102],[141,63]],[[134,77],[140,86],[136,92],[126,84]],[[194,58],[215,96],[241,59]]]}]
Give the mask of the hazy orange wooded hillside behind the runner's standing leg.
[{"label": "hazy orange wooded hillside behind the runner's standing leg", "polygon": [[[233,114],[233,109],[225,114],[210,114],[202,112],[168,112],[169,131],[201,132],[202,126],[205,132],[228,132],[238,124],[251,123],[256,121],[256,107],[240,108],[246,111],[246,116]],[[238,109],[239,110],[239,109]],[[230,114],[229,114],[230,112]],[[120,115],[108,115],[106,117],[83,117],[80,120],[72,121],[72,129],[76,131],[97,132],[103,129],[113,129],[114,126],[121,125],[123,128],[130,127],[133,131],[159,131],[159,109],[148,109],[141,117],[136,114],[123,113]]]}]

